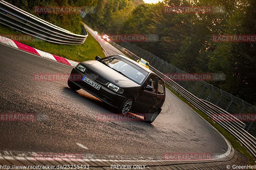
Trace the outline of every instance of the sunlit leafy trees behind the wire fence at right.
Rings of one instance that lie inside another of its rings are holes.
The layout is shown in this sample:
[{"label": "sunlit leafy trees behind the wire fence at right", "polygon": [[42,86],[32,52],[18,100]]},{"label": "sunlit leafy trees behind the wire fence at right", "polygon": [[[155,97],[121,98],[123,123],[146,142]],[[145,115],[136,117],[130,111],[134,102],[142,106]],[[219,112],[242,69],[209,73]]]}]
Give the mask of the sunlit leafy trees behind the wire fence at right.
[{"label": "sunlit leafy trees behind the wire fence at right", "polygon": [[[132,43],[187,72],[225,73],[225,81],[209,83],[256,103],[256,43],[211,40],[214,34],[255,34],[255,1],[164,0],[134,9],[120,4],[120,0],[99,0],[100,12],[85,18],[90,26],[107,34],[158,34],[157,42]],[[167,5],[224,6],[225,12],[164,13]]]}]

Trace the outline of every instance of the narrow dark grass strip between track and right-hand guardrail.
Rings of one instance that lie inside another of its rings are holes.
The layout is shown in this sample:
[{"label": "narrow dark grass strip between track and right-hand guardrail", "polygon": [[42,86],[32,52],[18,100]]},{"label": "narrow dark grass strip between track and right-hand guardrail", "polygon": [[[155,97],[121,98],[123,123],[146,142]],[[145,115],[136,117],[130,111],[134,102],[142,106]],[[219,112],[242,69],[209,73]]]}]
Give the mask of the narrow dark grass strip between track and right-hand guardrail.
[{"label": "narrow dark grass strip between track and right-hand guardrail", "polygon": [[200,110],[196,109],[191,103],[188,102],[188,100],[186,100],[184,97],[180,96],[177,92],[175,92],[174,90],[171,89],[171,87],[169,87],[168,85],[166,85],[166,88],[168,88],[174,95],[176,95],[180,100],[182,100],[184,103],[186,103],[189,107],[191,107],[198,115],[200,115],[201,117],[203,117],[207,122],[209,122],[214,128],[216,128],[224,137],[226,137],[230,143],[232,144],[233,148],[236,149],[237,151],[241,152],[242,154],[244,154],[244,156],[246,156],[250,163],[253,165],[256,165],[255,163],[255,159],[254,157],[247,151],[247,149],[242,146],[235,137],[233,137],[232,135],[230,135],[230,133],[223,129],[219,124],[215,123],[212,121],[211,118],[208,117],[208,115],[204,114],[203,112],[201,112]]}]

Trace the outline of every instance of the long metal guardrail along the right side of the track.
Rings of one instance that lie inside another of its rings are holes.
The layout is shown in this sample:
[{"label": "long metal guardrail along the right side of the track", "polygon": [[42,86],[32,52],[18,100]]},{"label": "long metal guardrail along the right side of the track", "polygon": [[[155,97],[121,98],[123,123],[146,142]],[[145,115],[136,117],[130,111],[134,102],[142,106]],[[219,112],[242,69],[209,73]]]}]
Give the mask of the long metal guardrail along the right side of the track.
[{"label": "long metal guardrail along the right side of the track", "polygon": [[[140,59],[137,55],[133,54],[126,48],[116,44],[115,42],[111,41],[111,43],[118,49],[125,52],[127,55],[132,57],[134,60]],[[217,115],[230,115],[225,110],[221,109],[214,104],[199,99],[192,93],[188,92],[182,86],[171,80],[170,78],[166,77],[160,71],[156,70],[154,67],[150,66],[150,69],[154,71],[158,76],[161,76],[165,79],[165,83],[169,85],[175,92],[178,92],[182,97],[184,97],[188,102],[190,102],[195,108],[201,110],[204,114],[208,115],[210,118],[212,116]],[[234,119],[236,119],[234,117]],[[256,139],[250,133],[243,129],[244,123],[236,119],[236,121],[218,121],[216,122],[224,129],[228,130],[230,134],[232,134],[236,139],[243,144],[253,155],[256,157]]]}]

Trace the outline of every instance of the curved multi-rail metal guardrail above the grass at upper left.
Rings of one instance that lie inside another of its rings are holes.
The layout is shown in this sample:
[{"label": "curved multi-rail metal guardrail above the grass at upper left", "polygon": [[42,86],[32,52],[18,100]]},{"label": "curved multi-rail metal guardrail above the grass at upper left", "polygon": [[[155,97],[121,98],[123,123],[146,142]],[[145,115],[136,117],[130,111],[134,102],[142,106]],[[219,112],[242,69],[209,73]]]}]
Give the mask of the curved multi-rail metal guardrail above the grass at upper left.
[{"label": "curved multi-rail metal guardrail above the grass at upper left", "polygon": [[83,44],[87,35],[78,35],[40,19],[0,0],[0,23],[37,39],[57,44]]}]

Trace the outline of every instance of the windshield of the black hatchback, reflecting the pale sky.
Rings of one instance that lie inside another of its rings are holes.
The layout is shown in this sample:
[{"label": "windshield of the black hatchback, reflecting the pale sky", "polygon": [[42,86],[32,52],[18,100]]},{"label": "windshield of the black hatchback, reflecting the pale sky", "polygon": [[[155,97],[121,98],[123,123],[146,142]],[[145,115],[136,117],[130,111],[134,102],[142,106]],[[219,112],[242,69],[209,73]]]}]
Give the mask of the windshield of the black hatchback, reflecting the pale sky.
[{"label": "windshield of the black hatchback, reflecting the pale sky", "polygon": [[137,84],[141,84],[148,75],[146,70],[118,55],[105,57],[100,59],[100,61]]}]

